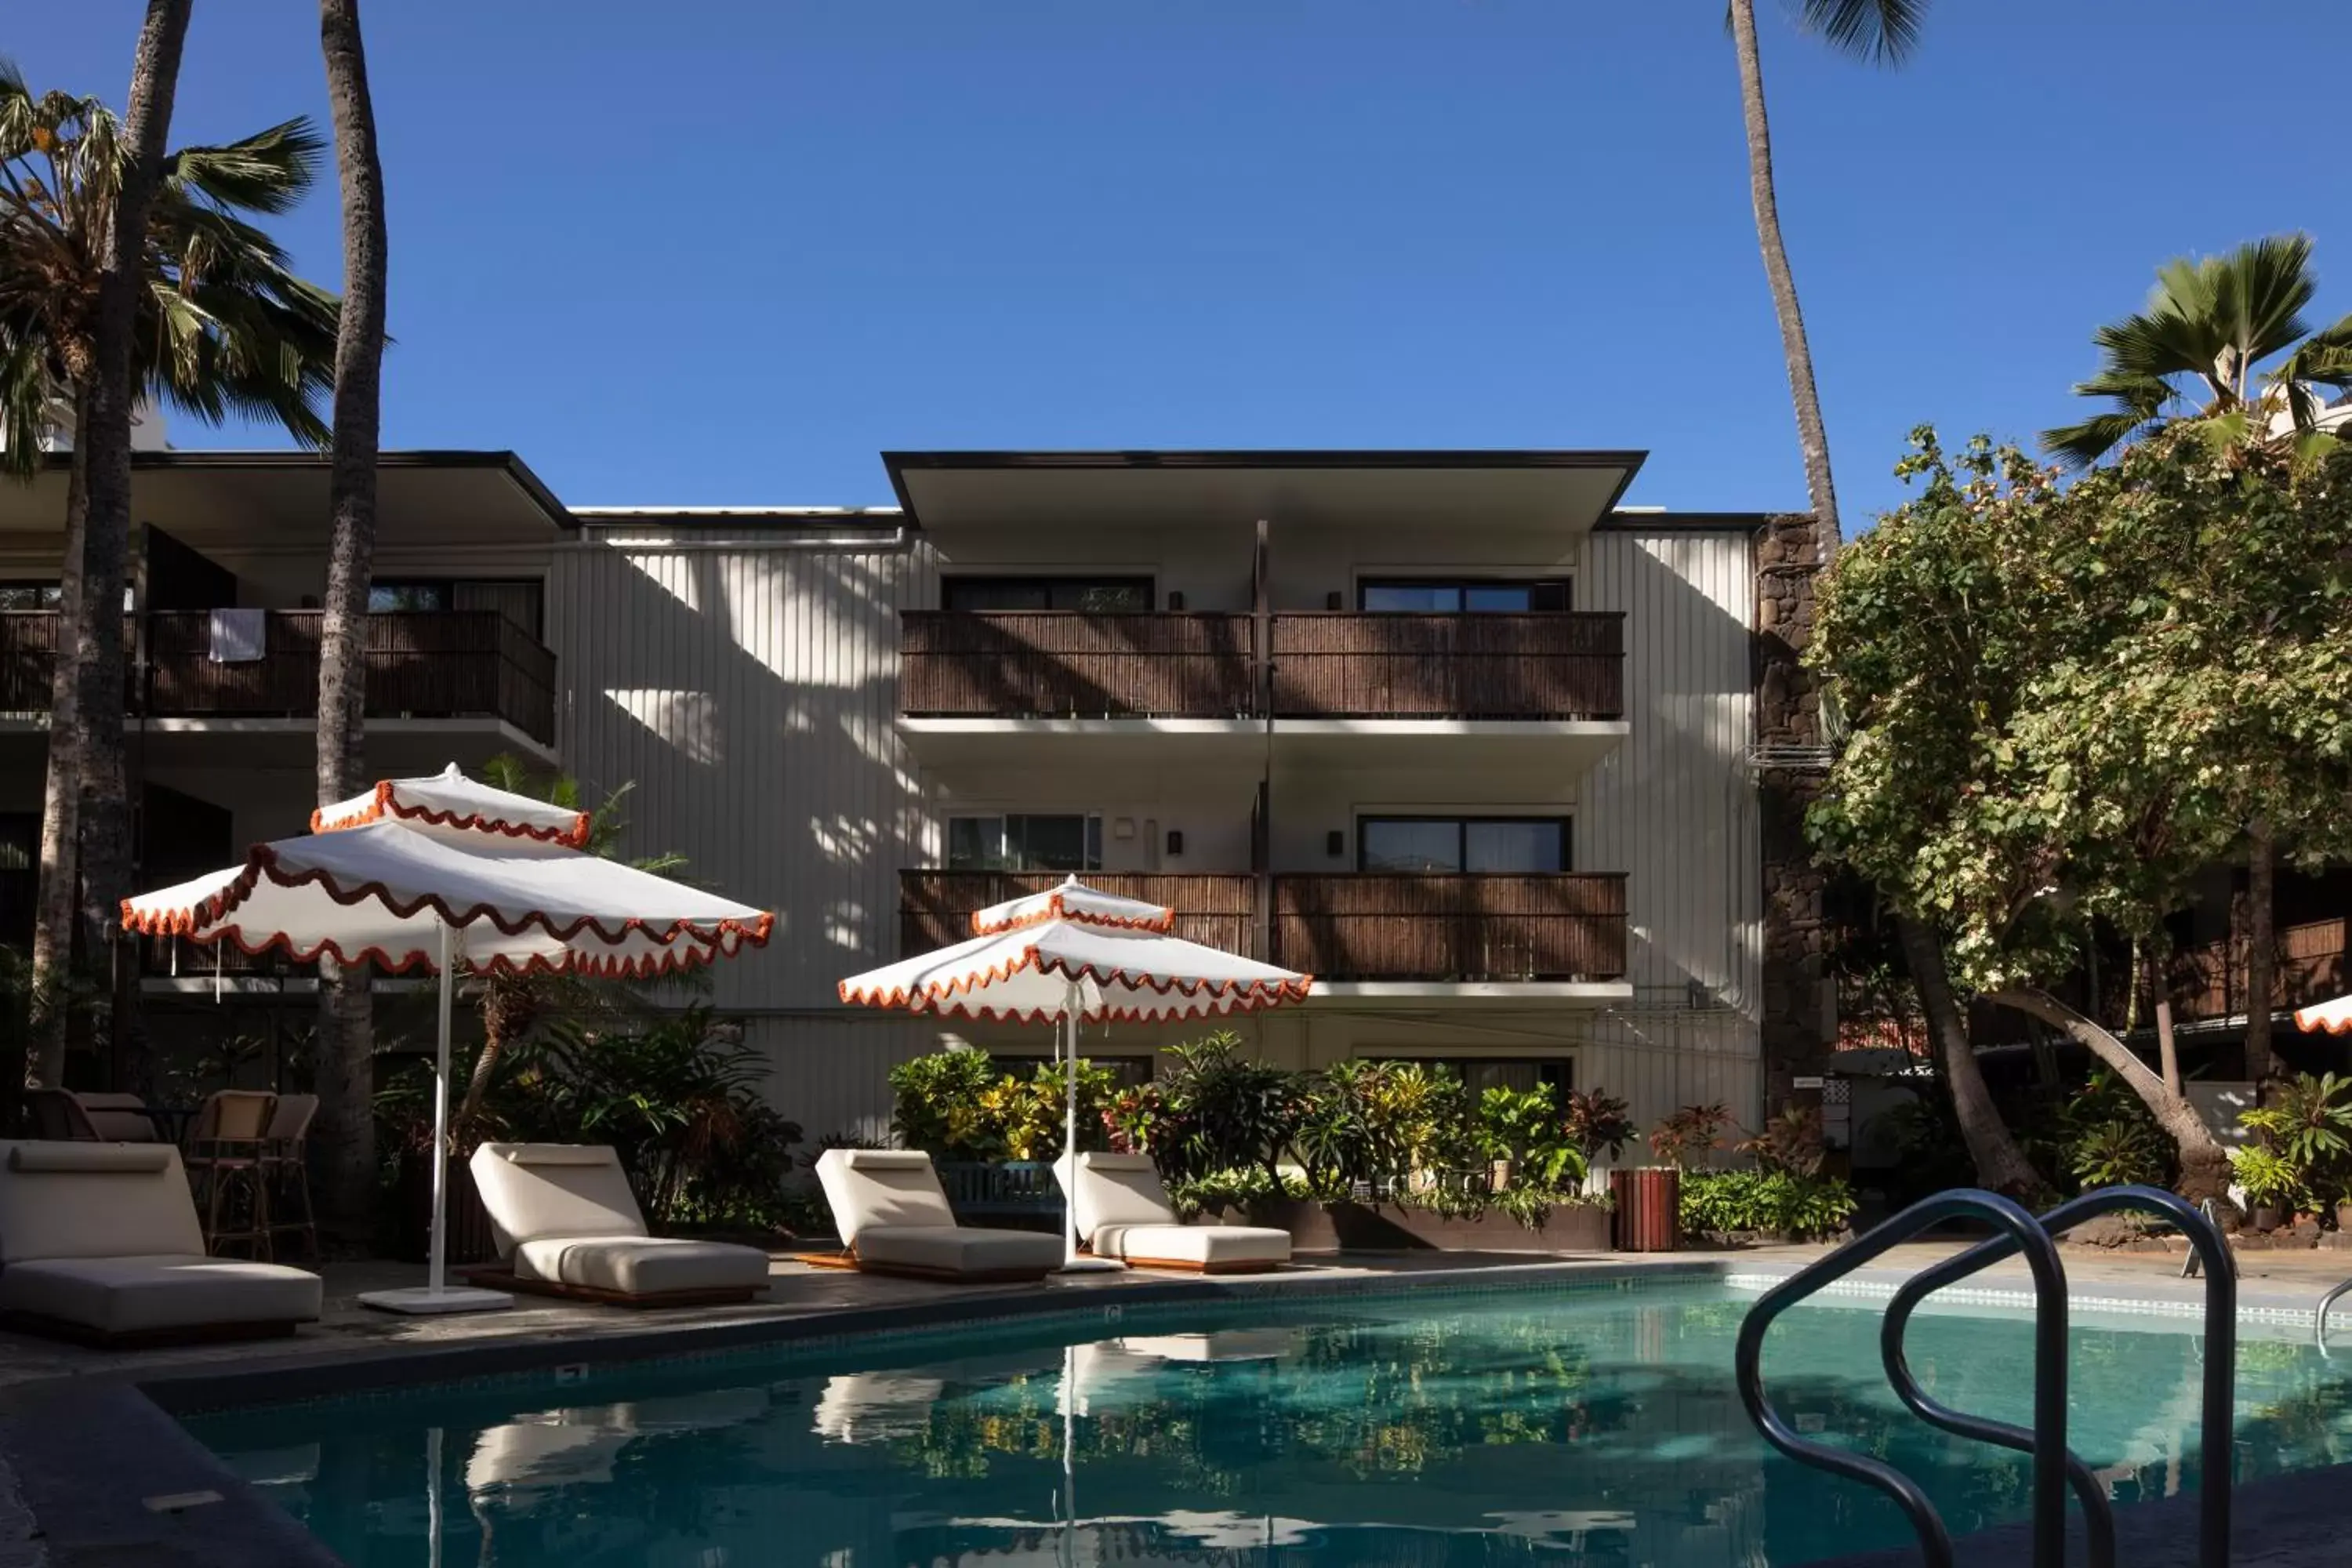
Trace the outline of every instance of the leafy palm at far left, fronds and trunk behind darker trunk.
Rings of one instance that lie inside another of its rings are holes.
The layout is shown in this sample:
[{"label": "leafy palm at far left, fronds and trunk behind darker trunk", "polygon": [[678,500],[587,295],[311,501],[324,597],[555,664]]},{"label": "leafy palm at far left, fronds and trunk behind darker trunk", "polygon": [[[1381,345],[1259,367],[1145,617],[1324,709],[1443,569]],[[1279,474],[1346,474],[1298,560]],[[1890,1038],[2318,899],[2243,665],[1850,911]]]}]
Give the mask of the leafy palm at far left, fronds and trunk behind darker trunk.
[{"label": "leafy palm at far left, fronds and trunk behind darker trunk", "polygon": [[[151,397],[207,423],[242,414],[270,418],[303,442],[327,437],[318,404],[332,364],[334,296],[294,277],[285,252],[240,216],[278,214],[301,200],[320,148],[306,120],[289,120],[162,160],[132,334],[134,378]],[[85,759],[78,651],[87,623],[82,557],[92,456],[82,430],[92,425],[96,303],[122,172],[125,141],[103,103],[33,94],[0,61],[0,470],[28,477],[40,468],[49,428],[68,425],[75,435],[33,945],[28,1072],[42,1084],[54,1084],[64,1065],[61,997],[73,950],[80,790],[103,792],[101,780],[120,773],[103,759]],[[111,602],[120,607],[120,590]],[[120,644],[120,611],[99,623],[111,625]],[[115,705],[120,712],[120,693]],[[113,797],[120,802],[120,783]],[[127,846],[120,863],[127,865]]]}]

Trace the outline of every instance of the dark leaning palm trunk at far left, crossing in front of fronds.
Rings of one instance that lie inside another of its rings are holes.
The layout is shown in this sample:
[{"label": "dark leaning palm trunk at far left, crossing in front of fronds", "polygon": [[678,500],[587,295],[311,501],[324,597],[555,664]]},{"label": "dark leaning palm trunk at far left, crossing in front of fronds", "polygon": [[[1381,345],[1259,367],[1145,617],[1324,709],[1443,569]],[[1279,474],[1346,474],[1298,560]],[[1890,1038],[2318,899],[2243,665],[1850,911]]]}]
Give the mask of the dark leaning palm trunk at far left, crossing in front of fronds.
[{"label": "dark leaning palm trunk at far left, crossing in front of fronds", "polygon": [[89,520],[82,534],[82,597],[73,661],[80,679],[85,766],[82,886],[89,903],[108,914],[108,952],[92,952],[101,973],[113,973],[115,1086],[146,1091],[146,1051],[139,1030],[136,947],[115,940],[113,917],[132,893],[132,813],[122,780],[122,576],[132,531],[132,336],[139,322],[139,289],[146,287],[146,219],[162,176],[165,139],[172,134],[172,99],[179,92],[179,54],[188,40],[193,0],[148,0],[132,56],[125,143],[129,158],[115,193],[113,226],[99,270],[92,320],[89,425],[75,444],[89,447]]}]

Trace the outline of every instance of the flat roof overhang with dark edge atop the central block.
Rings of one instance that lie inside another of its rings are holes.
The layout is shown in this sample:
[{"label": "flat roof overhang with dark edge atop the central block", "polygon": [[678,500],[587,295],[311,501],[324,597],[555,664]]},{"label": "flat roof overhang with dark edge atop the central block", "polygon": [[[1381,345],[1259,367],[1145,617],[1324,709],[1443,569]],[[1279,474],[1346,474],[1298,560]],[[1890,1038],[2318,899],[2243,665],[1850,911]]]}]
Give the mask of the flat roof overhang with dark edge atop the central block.
[{"label": "flat roof overhang with dark edge atop the central block", "polygon": [[1463,524],[1583,534],[1646,451],[884,451],[908,522]]}]

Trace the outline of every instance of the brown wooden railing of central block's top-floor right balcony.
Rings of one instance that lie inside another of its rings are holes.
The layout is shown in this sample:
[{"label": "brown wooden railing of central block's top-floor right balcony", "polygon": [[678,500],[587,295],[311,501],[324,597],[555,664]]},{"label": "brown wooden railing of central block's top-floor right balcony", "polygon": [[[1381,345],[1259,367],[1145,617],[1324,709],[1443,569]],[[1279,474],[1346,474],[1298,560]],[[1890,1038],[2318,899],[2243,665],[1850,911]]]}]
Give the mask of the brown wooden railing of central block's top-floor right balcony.
[{"label": "brown wooden railing of central block's top-floor right balcony", "polygon": [[1275,616],[1284,719],[1616,719],[1621,614]]}]

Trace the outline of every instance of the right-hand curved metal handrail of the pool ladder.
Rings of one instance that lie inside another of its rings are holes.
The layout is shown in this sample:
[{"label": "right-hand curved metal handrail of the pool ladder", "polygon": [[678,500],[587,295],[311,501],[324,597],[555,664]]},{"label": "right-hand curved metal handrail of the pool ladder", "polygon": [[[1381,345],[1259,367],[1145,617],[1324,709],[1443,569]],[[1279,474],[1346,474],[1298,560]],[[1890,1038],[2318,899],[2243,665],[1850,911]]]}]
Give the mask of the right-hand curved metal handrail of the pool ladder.
[{"label": "right-hand curved metal handrail of the pool ladder", "polygon": [[[2230,1244],[2223,1239],[2220,1227],[2213,1225],[2211,1213],[2204,1206],[2192,1208],[2187,1199],[2164,1192],[2161,1187],[2103,1187],[2098,1192],[2086,1192],[2070,1204],[2060,1204],[2042,1215],[2039,1225],[2051,1237],[2074,1229],[2084,1220],[2103,1213],[2124,1211],[2154,1211],[2171,1220],[2190,1244],[2190,1255],[2204,1265],[2206,1274],[2206,1345],[2209,1354],[2204,1361],[2204,1410],[2201,1410],[2201,1453],[2230,1455],[2234,1448],[2232,1429],[2232,1406],[2234,1406],[2234,1368],[2237,1368],[2237,1267],[2230,1255]],[[1919,1420],[1955,1432],[1959,1436],[1971,1436],[1983,1443],[1997,1443],[2002,1448],[2016,1448],[2020,1453],[2032,1453],[2034,1434],[2025,1427],[2013,1427],[2009,1422],[1985,1420],[1980,1415],[1966,1415],[1962,1410],[1950,1410],[1919,1389],[1919,1382],[1910,1373],[1910,1359],[1903,1349],[1903,1335],[1910,1328],[1910,1316],[1936,1291],[1957,1284],[2004,1258],[2016,1253],[2016,1244],[2009,1237],[1994,1237],[1980,1246],[1969,1248],[1955,1258],[1947,1258],[1929,1269],[1922,1269],[1907,1279],[1898,1291],[1893,1302],[1886,1307],[1886,1319],[1879,1326],[1879,1354],[1886,1361],[1886,1380],[1900,1399]],[[2218,1354],[2213,1354],[2218,1349]],[[2089,1544],[2091,1568],[2114,1568],[2114,1509],[2107,1502],[2107,1488],[2098,1483],[2091,1467],[2084,1465],[2074,1453],[2065,1455],[2067,1481],[2074,1486],[2074,1495],[2084,1512],[2084,1537]],[[2199,1563],[2201,1568],[2227,1568],[2230,1563],[2230,1465],[2204,1465],[2199,1476]]]}]

